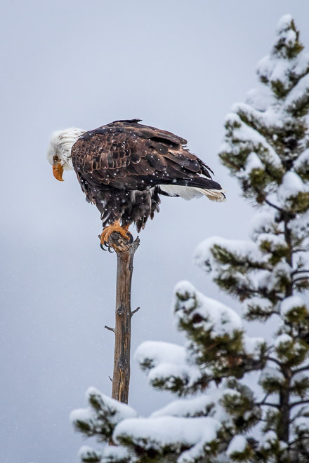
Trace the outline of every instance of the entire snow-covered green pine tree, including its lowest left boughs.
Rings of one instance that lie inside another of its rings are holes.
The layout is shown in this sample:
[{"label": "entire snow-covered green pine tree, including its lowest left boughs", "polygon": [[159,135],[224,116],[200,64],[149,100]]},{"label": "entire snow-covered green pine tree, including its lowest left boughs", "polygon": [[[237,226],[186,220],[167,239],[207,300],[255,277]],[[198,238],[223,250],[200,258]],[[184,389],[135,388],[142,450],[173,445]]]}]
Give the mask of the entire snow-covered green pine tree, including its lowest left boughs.
[{"label": "entire snow-covered green pine tree, including its lowest left boughs", "polygon": [[[150,384],[180,398],[140,418],[90,389],[74,426],[118,446],[82,448],[84,462],[309,461],[309,55],[291,16],[258,76],[264,88],[228,115],[220,154],[260,206],[251,241],[207,239],[195,260],[247,320],[270,320],[274,339],[248,337],[235,311],[178,283],[174,315],[188,342],[145,342],[136,358]],[[252,370],[261,398],[245,385]]]}]

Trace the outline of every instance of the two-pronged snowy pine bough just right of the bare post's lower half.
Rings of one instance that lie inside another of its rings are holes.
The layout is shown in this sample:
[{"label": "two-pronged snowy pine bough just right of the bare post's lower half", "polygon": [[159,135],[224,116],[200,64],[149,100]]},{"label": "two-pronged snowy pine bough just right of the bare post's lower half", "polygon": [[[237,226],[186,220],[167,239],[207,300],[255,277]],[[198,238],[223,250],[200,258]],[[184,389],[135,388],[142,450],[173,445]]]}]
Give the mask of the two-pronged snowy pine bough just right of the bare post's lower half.
[{"label": "two-pronged snowy pine bough just right of the bare post's lower half", "polygon": [[135,354],[153,387],[182,396],[203,390],[219,372],[239,376],[261,363],[263,338],[245,335],[234,310],[199,293],[188,281],[176,285],[173,311],[178,328],[187,333],[185,347],[148,341]]}]

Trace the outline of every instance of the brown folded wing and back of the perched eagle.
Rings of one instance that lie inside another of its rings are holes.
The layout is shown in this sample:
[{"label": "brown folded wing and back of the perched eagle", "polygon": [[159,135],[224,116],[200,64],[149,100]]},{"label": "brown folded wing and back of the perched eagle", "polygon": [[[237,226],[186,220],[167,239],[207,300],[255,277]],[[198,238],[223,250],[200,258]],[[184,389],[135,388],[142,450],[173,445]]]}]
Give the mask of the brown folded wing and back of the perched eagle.
[{"label": "brown folded wing and back of the perched eagle", "polygon": [[[114,121],[86,132],[73,145],[74,170],[86,194],[87,184],[130,190],[157,184],[221,189],[208,180],[211,169],[185,148],[185,139],[138,122]],[[202,177],[203,184],[200,175],[208,177]]]}]

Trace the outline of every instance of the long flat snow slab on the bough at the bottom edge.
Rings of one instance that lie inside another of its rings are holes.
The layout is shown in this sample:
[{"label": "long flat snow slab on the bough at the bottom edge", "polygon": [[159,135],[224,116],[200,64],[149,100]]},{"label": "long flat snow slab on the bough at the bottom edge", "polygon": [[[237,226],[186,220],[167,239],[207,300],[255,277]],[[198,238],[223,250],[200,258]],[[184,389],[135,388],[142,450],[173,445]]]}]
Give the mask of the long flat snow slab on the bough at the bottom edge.
[{"label": "long flat snow slab on the bough at the bottom edge", "polygon": [[197,456],[204,455],[204,448],[214,441],[221,424],[209,417],[180,418],[157,417],[124,420],[114,429],[113,440],[117,444],[131,441],[146,450],[162,452],[181,452],[178,463],[194,462]]}]

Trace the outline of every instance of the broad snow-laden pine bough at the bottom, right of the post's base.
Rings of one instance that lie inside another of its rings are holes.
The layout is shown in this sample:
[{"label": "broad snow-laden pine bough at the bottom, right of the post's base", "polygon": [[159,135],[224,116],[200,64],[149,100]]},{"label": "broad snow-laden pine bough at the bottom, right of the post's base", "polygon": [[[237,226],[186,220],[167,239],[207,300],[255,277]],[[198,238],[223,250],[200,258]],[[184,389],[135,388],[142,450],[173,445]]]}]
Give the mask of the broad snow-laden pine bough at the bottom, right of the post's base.
[{"label": "broad snow-laden pine bough at the bottom, right of the post's base", "polygon": [[[233,380],[198,397],[173,401],[149,418],[124,420],[117,424],[112,438],[145,457],[173,455],[178,463],[221,461],[222,457],[229,462],[224,452],[232,436],[237,430],[250,429],[260,416],[249,388]],[[236,442],[233,453],[248,451],[247,441],[242,450]]]}]

